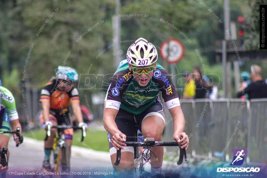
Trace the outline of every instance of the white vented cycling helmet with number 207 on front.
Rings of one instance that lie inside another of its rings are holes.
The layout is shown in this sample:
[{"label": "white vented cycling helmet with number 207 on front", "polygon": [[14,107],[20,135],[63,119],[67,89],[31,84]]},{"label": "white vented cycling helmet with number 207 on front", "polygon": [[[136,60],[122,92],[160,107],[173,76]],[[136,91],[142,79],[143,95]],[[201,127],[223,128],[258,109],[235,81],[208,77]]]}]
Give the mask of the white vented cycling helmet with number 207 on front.
[{"label": "white vented cycling helmet with number 207 on front", "polygon": [[127,62],[133,66],[152,65],[157,61],[157,49],[144,38],[137,39],[127,50]]}]

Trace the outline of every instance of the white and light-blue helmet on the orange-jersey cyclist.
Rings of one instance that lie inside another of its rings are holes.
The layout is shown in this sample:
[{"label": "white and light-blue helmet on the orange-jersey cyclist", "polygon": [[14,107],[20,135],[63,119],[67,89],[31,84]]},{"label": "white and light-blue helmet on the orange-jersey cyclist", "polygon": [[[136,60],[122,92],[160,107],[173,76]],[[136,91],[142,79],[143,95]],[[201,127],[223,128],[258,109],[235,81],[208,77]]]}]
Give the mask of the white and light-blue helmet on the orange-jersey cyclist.
[{"label": "white and light-blue helmet on the orange-jersey cyclist", "polygon": [[56,78],[66,80],[66,81],[77,82],[79,76],[78,76],[76,69],[59,65],[56,71]]}]

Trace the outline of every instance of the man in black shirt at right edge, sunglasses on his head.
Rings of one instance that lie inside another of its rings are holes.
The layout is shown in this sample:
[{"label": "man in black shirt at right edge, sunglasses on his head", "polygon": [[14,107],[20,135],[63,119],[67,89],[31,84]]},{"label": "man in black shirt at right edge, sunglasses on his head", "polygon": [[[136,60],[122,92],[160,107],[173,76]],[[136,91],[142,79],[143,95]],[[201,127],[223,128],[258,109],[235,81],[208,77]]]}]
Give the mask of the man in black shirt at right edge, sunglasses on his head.
[{"label": "man in black shirt at right edge, sunglasses on his head", "polygon": [[267,84],[262,80],[262,69],[259,65],[251,65],[250,75],[252,82],[246,88],[240,88],[237,97],[248,93],[248,99],[267,98]]}]

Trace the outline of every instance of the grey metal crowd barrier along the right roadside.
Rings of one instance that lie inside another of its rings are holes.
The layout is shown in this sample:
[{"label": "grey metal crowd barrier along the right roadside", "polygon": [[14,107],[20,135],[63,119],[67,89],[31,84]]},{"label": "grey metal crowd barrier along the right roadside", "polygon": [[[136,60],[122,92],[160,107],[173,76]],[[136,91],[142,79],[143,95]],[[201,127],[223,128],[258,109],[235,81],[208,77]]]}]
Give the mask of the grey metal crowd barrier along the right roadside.
[{"label": "grey metal crowd barrier along the right roadside", "polygon": [[[247,163],[267,163],[267,99],[186,99],[181,108],[191,134],[188,156],[231,162],[232,149],[247,149]],[[173,138],[172,120],[164,138]]]}]

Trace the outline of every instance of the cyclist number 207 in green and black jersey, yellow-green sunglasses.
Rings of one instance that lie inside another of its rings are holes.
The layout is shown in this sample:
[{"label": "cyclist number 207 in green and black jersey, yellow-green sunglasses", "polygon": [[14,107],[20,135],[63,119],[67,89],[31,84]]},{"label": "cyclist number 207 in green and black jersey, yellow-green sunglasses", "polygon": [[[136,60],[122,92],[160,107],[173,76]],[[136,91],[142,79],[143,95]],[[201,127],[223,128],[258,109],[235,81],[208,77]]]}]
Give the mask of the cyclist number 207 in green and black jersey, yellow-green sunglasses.
[{"label": "cyclist number 207 in green and black jersey, yellow-green sunglasses", "polygon": [[[184,115],[171,77],[157,62],[157,49],[144,38],[137,39],[127,51],[127,64],[115,72],[106,96],[103,123],[109,133],[110,158],[116,171],[131,172],[134,169],[134,148],[125,141],[135,141],[135,129],[144,137],[161,141],[165,126],[164,102],[174,121],[174,140],[188,147],[188,135],[184,133]],[[116,80],[115,80],[116,79]],[[180,137],[183,136],[183,139]],[[114,166],[116,153],[121,150],[119,166]],[[161,172],[163,147],[152,147],[151,173]]]}]

